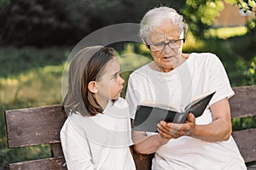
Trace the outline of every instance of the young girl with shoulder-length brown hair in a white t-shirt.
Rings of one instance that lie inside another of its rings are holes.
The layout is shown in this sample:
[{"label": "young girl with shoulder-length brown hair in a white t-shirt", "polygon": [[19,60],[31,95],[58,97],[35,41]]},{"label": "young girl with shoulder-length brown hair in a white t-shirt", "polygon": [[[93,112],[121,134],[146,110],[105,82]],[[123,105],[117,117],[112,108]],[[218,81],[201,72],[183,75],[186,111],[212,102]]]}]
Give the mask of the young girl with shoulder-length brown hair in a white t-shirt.
[{"label": "young girl with shoulder-length brown hair in a white t-shirt", "polygon": [[61,145],[68,169],[135,169],[124,80],[112,48],[81,50],[71,62]]}]

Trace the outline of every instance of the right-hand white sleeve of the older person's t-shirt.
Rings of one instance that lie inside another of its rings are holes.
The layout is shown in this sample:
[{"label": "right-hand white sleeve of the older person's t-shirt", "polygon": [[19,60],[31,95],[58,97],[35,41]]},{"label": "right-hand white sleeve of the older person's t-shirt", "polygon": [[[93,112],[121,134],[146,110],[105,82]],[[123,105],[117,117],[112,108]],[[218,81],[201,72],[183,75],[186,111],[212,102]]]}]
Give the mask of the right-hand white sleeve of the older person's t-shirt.
[{"label": "right-hand white sleeve of the older person's t-shirt", "polygon": [[230,86],[229,77],[224,69],[224,65],[216,55],[212,55],[210,62],[210,89],[216,91],[210,105],[220,99],[230,98],[235,93]]}]

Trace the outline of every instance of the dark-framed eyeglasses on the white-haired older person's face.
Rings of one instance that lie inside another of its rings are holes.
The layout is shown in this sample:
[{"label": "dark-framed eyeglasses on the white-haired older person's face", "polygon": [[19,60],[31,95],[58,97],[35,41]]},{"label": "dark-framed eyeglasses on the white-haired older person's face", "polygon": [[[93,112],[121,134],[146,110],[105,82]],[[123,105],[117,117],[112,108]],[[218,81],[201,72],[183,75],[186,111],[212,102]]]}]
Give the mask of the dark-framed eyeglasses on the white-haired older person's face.
[{"label": "dark-framed eyeglasses on the white-haired older person's face", "polygon": [[185,42],[185,39],[169,40],[168,42],[157,42],[153,44],[147,44],[150,51],[163,51],[168,45],[170,48],[180,48],[182,41]]}]

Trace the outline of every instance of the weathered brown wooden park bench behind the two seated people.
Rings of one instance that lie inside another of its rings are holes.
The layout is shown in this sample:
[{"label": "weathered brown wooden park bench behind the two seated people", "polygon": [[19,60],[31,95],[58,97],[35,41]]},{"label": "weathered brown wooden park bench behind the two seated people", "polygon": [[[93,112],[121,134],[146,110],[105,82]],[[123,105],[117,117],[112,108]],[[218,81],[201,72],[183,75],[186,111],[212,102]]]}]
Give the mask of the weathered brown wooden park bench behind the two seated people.
[{"label": "weathered brown wooden park bench behind the two seated people", "polygon": [[[232,118],[256,116],[256,86],[234,88],[230,99]],[[67,116],[61,105],[5,111],[8,147],[49,144],[50,158],[10,163],[9,169],[67,169],[61,150],[60,129]],[[232,133],[241,155],[248,162],[256,161],[256,128]],[[133,152],[138,170],[151,167],[153,154],[145,156]],[[254,169],[256,167],[248,167]]]}]

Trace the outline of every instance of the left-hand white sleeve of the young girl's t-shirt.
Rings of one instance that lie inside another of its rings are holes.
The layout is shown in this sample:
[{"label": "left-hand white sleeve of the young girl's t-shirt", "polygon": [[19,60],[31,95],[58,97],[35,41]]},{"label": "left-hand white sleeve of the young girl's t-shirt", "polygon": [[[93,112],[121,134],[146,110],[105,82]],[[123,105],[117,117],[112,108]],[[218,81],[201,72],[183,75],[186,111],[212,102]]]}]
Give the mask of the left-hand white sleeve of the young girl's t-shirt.
[{"label": "left-hand white sleeve of the young girl's t-shirt", "polygon": [[61,128],[61,146],[68,169],[94,169],[88,141],[74,127],[73,122],[69,118],[67,118],[67,121]]}]

